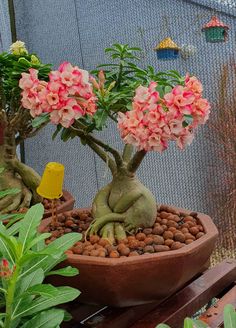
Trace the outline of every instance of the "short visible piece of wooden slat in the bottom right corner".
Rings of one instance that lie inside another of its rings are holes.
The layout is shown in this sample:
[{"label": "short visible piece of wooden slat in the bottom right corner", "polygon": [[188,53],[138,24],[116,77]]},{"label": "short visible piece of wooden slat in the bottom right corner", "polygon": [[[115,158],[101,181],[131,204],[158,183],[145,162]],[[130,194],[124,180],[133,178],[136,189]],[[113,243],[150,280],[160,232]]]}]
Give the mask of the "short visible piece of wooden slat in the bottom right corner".
[{"label": "short visible piece of wooden slat in the bottom right corner", "polygon": [[210,307],[200,316],[200,320],[206,322],[211,328],[221,327],[223,313],[226,304],[232,304],[236,308],[236,285],[234,285],[214,306]]}]

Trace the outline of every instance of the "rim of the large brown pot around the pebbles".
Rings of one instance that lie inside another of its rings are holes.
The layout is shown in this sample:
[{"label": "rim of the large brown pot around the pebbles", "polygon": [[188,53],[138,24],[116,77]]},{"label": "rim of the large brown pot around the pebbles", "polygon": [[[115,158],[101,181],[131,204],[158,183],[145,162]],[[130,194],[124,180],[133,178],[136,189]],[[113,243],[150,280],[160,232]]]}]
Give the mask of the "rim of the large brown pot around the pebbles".
[{"label": "rim of the large brown pot around the pebbles", "polygon": [[[190,214],[193,211],[186,210],[180,207],[175,207],[171,206],[172,208],[184,212],[186,214]],[[80,208],[81,210],[89,210],[90,208]],[[67,211],[70,212],[70,211]],[[62,214],[62,213],[61,213]],[[172,251],[166,251],[166,252],[159,252],[159,253],[154,253],[154,254],[143,254],[141,256],[132,256],[132,257],[122,257],[122,258],[116,258],[116,259],[111,259],[111,258],[102,258],[102,257],[95,257],[95,256],[88,256],[88,255],[78,255],[78,254],[66,254],[67,259],[65,261],[68,261],[70,263],[87,263],[87,264],[96,264],[100,266],[115,266],[115,265],[126,265],[127,263],[139,263],[139,262],[151,262],[153,259],[171,259],[173,257],[180,257],[183,256],[183,254],[189,255],[191,253],[194,253],[198,251],[198,247],[204,244],[206,241],[210,241],[212,239],[215,239],[219,232],[218,229],[216,228],[215,224],[213,223],[212,219],[210,216],[197,212],[198,214],[198,219],[201,222],[201,224],[204,227],[205,230],[205,235],[202,236],[201,238],[195,240],[193,243],[185,245],[184,247],[177,249],[177,250],[172,250]],[[58,215],[60,216],[60,214]],[[44,228],[49,224],[51,220],[51,217],[46,218],[42,220],[42,223],[44,223]],[[47,222],[45,222],[47,221]]]}]

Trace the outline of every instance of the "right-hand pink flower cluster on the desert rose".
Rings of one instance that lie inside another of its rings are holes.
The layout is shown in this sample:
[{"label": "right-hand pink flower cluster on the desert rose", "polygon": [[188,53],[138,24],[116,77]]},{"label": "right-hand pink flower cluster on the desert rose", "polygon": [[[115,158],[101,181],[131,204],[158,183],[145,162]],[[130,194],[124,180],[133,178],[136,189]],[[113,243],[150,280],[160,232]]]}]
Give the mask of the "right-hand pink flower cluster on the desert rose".
[{"label": "right-hand pink flower cluster on the desert rose", "polygon": [[202,84],[187,75],[184,86],[175,86],[163,98],[156,87],[156,82],[139,86],[132,110],[119,113],[121,137],[138,150],[162,152],[169,141],[176,141],[183,149],[192,142],[194,129],[204,124],[210,113],[208,101],[202,98]]}]

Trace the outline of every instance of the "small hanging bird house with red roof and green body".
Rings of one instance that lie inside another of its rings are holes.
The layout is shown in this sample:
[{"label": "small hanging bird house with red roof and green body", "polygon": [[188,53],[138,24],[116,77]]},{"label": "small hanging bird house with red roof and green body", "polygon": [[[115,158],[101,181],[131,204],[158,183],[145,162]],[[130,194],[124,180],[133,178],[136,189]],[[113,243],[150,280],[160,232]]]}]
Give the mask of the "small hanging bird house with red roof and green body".
[{"label": "small hanging bird house with red roof and green body", "polygon": [[229,27],[213,16],[210,22],[205,24],[202,31],[205,33],[207,42],[225,42],[228,37]]}]

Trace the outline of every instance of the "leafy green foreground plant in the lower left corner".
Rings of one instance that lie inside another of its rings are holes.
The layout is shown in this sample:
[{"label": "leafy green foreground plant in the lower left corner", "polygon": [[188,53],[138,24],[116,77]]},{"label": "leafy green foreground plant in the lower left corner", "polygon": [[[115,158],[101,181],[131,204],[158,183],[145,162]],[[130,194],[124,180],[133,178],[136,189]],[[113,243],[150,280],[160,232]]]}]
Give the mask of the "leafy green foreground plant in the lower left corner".
[{"label": "leafy green foreground plant in the lower left corner", "polygon": [[5,261],[5,267],[3,262],[0,266],[0,327],[57,328],[68,314],[54,307],[80,294],[71,287],[43,283],[48,275],[78,274],[72,267],[51,270],[65,259],[64,252],[81,239],[80,234],[70,233],[46,246],[44,240],[50,234],[38,233],[43,211],[42,204],[37,204],[21,222],[9,228],[0,223],[0,259]]}]

